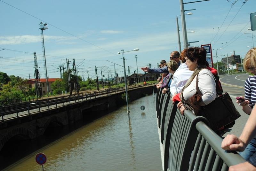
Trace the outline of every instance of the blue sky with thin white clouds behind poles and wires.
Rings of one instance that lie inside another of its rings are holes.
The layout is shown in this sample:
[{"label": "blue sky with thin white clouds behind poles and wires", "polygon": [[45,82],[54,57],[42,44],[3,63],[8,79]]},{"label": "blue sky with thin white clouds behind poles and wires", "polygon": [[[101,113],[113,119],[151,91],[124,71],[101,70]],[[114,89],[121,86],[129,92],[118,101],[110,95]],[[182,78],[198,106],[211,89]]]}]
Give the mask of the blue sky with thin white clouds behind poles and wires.
[{"label": "blue sky with thin white clouds behind poles and wires", "polygon": [[[236,0],[229,1],[233,3]],[[231,4],[227,0],[185,4],[185,10],[196,9],[191,11],[193,15],[186,15],[187,32],[196,31],[188,33],[188,42],[200,41],[194,43],[194,46],[212,43],[212,49],[222,48],[217,51],[218,56],[227,55],[227,53],[230,56],[230,52],[235,51],[236,55],[244,57],[244,54],[252,47],[252,37],[248,37],[251,34],[243,35],[243,33],[256,34],[256,32],[247,30],[250,28],[249,15],[256,12],[256,4],[255,0],[248,0],[242,6],[243,1],[245,0],[238,0],[229,14]],[[184,3],[186,2],[191,1],[184,0]],[[89,77],[93,78],[95,75],[95,65],[99,71],[102,70],[103,74],[109,74],[110,77],[112,74],[114,77],[114,64],[106,60],[123,65],[122,55],[117,55],[121,49],[124,51],[140,49],[140,51],[124,54],[127,72],[130,66],[131,73],[136,69],[134,55],[138,55],[139,73],[142,73],[140,67],[147,66],[149,62],[152,67],[156,67],[156,63],[160,60],[169,60],[171,51],[178,50],[176,15],[180,15],[179,0],[159,2],[153,0],[3,0],[2,2],[1,0],[0,15],[2,16],[0,71],[8,75],[28,78],[28,73],[30,73],[33,78],[33,52],[36,52],[39,72],[42,78],[45,78],[41,30],[38,29],[41,21],[48,23],[48,29],[44,30],[44,41],[47,71],[50,78],[60,77],[60,72],[56,68],[62,64],[66,66],[66,58],[71,63],[72,58],[75,58],[76,64],[81,64],[78,67],[79,75],[82,75],[84,71],[86,79],[87,70]],[[235,15],[235,19],[231,22]],[[223,23],[226,16],[227,19]],[[182,30],[180,21],[179,17],[180,30]],[[222,23],[223,26],[220,28]],[[220,29],[217,34],[218,27]],[[181,31],[180,39],[183,47]],[[215,56],[216,52],[213,55]],[[213,61],[216,61],[216,57]],[[122,70],[121,66],[116,66],[119,76],[123,74]]]}]

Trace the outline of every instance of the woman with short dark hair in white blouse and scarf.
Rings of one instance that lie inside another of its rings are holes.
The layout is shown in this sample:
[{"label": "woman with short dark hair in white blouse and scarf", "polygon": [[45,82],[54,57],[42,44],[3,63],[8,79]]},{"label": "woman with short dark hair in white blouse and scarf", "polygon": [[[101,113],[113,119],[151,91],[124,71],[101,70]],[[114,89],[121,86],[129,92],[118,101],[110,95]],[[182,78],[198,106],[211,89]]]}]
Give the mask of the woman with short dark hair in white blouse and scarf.
[{"label": "woman with short dark hair in white blouse and scarf", "polygon": [[[181,102],[178,104],[180,112],[183,114],[185,107],[183,103],[196,94],[196,75],[198,74],[198,88],[202,93],[200,106],[208,105],[216,97],[216,83],[206,61],[206,51],[204,48],[191,47],[186,52],[186,65],[190,71],[194,71],[180,93]],[[182,103],[183,102],[183,103]]]}]

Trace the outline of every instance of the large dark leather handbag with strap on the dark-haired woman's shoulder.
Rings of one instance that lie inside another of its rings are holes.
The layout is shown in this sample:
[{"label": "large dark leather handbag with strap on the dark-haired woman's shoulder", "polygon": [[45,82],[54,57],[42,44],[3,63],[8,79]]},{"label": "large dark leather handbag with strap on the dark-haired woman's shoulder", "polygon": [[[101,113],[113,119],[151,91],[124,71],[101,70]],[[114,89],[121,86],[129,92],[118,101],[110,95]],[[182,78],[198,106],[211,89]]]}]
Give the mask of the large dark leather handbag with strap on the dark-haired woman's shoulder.
[{"label": "large dark leather handbag with strap on the dark-haired woman's shoulder", "polygon": [[[217,89],[217,81],[215,80],[215,82]],[[218,97],[215,98],[215,100],[213,100],[210,104],[200,106],[199,103],[202,100],[202,93],[198,88],[197,74],[196,94],[185,101],[185,103],[187,102],[187,105],[189,105],[191,108],[197,109],[194,111],[197,116],[204,116],[209,121],[209,126],[213,131],[216,131],[227,125],[229,126],[228,128],[231,128],[235,124],[235,120],[241,116],[236,110],[236,107],[228,93],[223,94],[222,91],[220,92],[217,90],[217,94]]]}]

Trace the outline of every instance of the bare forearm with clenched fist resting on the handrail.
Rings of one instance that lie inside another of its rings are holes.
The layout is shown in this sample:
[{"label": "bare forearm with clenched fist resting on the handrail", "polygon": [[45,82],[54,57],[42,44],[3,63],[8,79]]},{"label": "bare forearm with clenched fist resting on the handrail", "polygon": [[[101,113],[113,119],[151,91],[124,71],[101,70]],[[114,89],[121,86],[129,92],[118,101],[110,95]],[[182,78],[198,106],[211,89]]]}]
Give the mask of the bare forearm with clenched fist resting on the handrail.
[{"label": "bare forearm with clenched fist resting on the handrail", "polygon": [[235,135],[227,135],[222,143],[221,148],[228,151],[243,152],[245,147],[249,144],[252,138],[256,135],[256,107],[252,109],[242,134],[240,137]]}]

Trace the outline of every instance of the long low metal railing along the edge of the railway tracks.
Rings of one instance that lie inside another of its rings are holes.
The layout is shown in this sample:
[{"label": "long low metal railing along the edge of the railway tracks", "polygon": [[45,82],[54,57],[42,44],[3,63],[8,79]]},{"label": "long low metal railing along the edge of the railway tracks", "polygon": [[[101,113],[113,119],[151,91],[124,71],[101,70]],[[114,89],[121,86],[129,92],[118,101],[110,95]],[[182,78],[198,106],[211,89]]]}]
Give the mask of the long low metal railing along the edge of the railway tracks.
[{"label": "long low metal railing along the edge of the railway tracks", "polygon": [[[148,84],[151,85],[151,84]],[[148,86],[146,85],[146,86]],[[137,84],[129,86],[128,89],[138,89],[141,87],[145,87],[144,84]],[[12,105],[1,105],[0,106],[0,121],[4,121],[7,119],[13,119],[20,116],[28,115],[28,114],[34,114],[34,113],[40,113],[46,110],[50,110],[53,108],[62,107],[65,105],[70,105],[73,103],[91,100],[95,98],[100,97],[107,97],[113,94],[117,93],[123,93],[125,92],[125,88],[115,88],[115,89],[106,89],[106,90],[100,90],[100,91],[93,91],[93,92],[87,92],[87,93],[81,93],[73,96],[64,96],[64,97],[55,97],[55,98],[48,98],[48,99],[42,99],[42,100],[34,100],[30,102],[23,102],[23,103],[16,103]],[[25,113],[21,113],[24,112]],[[8,116],[7,116],[8,115]]]}]

